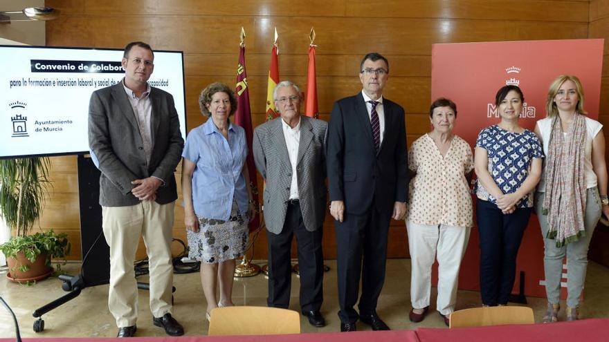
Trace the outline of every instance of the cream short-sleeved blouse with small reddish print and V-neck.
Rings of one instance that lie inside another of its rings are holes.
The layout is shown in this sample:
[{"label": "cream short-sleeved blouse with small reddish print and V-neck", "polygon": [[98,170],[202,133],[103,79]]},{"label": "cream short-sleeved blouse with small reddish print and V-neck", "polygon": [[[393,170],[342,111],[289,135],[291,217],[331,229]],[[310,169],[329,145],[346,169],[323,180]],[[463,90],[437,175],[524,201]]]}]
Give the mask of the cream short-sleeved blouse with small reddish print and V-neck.
[{"label": "cream short-sleeved blouse with small reddish print and V-neck", "polygon": [[472,205],[465,174],[473,169],[471,147],[457,135],[444,157],[429,135],[408,151],[410,205],[406,221],[419,225],[472,227]]}]

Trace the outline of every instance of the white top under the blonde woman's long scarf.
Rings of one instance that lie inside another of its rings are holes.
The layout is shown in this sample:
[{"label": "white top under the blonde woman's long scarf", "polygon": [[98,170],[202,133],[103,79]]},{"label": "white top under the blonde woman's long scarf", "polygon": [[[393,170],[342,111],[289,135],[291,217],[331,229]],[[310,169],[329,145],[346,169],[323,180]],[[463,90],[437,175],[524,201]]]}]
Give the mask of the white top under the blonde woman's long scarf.
[{"label": "white top under the blonde woman's long scarf", "polygon": [[[547,150],[549,149],[549,136],[552,134],[552,118],[546,117],[537,121],[537,127],[541,133],[541,140],[543,141],[543,154],[547,157]],[[585,189],[597,187],[597,174],[592,169],[592,140],[599,134],[603,125],[597,120],[592,120],[590,117],[585,117],[585,154],[583,158],[583,181],[585,182]],[[565,133],[566,134],[566,133]],[[543,160],[543,172],[541,173],[541,179],[537,184],[538,192],[545,192],[545,160]]]}]

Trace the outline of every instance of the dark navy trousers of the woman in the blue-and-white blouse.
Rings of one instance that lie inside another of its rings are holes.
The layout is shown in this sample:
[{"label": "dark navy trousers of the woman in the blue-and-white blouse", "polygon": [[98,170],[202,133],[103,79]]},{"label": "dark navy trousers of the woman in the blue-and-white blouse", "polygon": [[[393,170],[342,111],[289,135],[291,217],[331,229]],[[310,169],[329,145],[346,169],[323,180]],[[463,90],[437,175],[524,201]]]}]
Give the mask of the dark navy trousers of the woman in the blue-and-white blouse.
[{"label": "dark navy trousers of the woman in the blue-and-white blouse", "polygon": [[516,256],[533,208],[509,214],[486,200],[476,200],[480,231],[480,295],[482,304],[505,305],[516,277]]}]

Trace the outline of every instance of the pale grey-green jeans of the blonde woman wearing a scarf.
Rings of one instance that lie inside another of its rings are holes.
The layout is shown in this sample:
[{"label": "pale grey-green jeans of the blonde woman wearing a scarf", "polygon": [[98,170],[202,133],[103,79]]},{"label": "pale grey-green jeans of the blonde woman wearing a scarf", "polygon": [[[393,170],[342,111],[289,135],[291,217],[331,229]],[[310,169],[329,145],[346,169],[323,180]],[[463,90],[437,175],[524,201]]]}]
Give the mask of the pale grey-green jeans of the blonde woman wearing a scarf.
[{"label": "pale grey-green jeans of the blonde woman wearing a scarf", "polygon": [[594,187],[586,191],[585,212],[583,213],[583,226],[585,236],[575,243],[568,243],[563,247],[556,247],[556,240],[545,238],[547,234],[547,216],[542,214],[543,198],[545,193],[535,194],[535,212],[539,219],[541,234],[543,235],[543,268],[545,270],[545,293],[547,301],[558,304],[561,300],[561,278],[563,278],[563,259],[567,255],[567,305],[578,307],[585,271],[588,268],[588,246],[594,228],[601,218],[602,207],[599,189]]}]

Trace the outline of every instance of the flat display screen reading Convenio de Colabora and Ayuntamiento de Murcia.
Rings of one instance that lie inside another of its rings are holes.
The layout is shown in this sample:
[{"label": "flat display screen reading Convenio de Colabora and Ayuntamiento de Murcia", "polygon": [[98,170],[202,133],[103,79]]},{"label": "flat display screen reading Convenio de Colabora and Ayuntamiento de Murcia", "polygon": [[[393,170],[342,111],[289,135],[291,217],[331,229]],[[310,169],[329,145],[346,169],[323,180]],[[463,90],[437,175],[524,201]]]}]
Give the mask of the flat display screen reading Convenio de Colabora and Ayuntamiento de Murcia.
[{"label": "flat display screen reading Convenio de Colabora and Ayuntamiento de Murcia", "polygon": [[[121,81],[122,53],[0,46],[0,158],[89,153],[89,99]],[[173,95],[185,137],[183,53],[154,51],[148,82]]]}]

